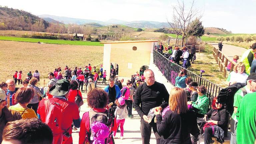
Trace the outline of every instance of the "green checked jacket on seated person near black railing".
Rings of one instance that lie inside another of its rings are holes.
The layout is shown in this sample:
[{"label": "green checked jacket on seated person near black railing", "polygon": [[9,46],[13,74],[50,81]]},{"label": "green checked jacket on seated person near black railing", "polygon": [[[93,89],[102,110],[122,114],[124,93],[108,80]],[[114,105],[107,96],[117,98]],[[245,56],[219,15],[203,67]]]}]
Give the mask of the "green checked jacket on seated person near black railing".
[{"label": "green checked jacket on seated person near black railing", "polygon": [[202,95],[197,97],[196,102],[192,102],[192,106],[199,110],[198,113],[206,114],[209,105],[209,98],[206,95]]}]

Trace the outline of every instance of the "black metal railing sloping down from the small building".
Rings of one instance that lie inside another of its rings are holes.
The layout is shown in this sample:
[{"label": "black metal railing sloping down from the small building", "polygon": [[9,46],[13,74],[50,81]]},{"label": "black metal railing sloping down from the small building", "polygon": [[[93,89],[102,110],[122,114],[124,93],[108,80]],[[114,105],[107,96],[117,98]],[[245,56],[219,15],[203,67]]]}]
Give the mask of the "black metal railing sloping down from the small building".
[{"label": "black metal railing sloping down from the small building", "polygon": [[[157,52],[156,50],[153,51],[153,59],[154,64],[158,67],[159,71],[165,76],[168,82],[175,86],[175,78],[178,76],[181,69],[185,69],[180,65],[171,62],[162,54]],[[210,104],[214,97],[218,96],[219,91],[222,87],[218,86],[217,84],[187,70],[187,76],[191,77],[194,82],[197,82],[199,86],[205,86],[207,89],[206,95],[209,97]]]}]

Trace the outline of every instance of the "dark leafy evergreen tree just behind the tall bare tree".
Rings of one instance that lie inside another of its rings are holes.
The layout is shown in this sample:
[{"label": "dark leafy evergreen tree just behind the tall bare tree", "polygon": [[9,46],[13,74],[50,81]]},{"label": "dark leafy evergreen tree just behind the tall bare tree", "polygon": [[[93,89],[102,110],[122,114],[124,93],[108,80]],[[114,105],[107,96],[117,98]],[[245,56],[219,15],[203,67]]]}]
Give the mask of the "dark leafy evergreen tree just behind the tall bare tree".
[{"label": "dark leafy evergreen tree just behind the tall bare tree", "polygon": [[204,34],[204,26],[202,25],[202,22],[200,22],[198,19],[194,20],[191,24],[193,28],[189,31],[189,35],[201,37]]}]

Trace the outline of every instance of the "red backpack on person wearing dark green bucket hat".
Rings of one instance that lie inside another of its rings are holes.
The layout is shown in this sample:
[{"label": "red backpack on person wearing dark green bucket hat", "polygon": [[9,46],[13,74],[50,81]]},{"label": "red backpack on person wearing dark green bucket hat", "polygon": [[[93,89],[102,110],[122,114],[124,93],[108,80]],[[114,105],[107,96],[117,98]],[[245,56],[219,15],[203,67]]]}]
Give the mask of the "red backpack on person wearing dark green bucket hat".
[{"label": "red backpack on person wearing dark green bucket hat", "polygon": [[45,123],[51,128],[53,133],[52,144],[65,144],[70,134],[67,130],[61,128],[63,119],[63,107],[54,101],[54,99],[46,99],[45,105]]}]

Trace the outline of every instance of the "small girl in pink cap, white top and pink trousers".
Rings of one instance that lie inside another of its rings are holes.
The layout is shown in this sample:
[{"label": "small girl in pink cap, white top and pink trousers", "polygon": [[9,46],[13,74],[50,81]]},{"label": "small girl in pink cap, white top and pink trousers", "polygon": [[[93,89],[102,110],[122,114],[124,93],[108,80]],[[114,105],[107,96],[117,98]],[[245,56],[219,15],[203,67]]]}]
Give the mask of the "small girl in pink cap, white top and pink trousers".
[{"label": "small girl in pink cap, white top and pink trousers", "polygon": [[[120,125],[120,139],[124,139],[124,121],[126,116],[128,115],[128,110],[125,105],[125,100],[123,97],[118,98],[118,106],[115,111],[116,123],[119,127]],[[116,131],[113,132],[113,138],[116,137]]]}]

